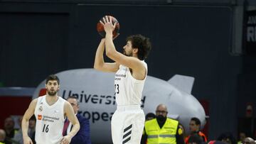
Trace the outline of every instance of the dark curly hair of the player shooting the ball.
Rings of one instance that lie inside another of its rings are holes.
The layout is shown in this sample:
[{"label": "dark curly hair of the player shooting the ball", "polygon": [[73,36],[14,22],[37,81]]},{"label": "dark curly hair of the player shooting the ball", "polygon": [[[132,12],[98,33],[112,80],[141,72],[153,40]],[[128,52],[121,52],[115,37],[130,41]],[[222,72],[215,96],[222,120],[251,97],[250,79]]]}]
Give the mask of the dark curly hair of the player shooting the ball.
[{"label": "dark curly hair of the player shooting the ball", "polygon": [[130,35],[127,41],[131,41],[132,48],[138,48],[139,60],[145,60],[151,50],[151,43],[149,38],[143,35]]}]

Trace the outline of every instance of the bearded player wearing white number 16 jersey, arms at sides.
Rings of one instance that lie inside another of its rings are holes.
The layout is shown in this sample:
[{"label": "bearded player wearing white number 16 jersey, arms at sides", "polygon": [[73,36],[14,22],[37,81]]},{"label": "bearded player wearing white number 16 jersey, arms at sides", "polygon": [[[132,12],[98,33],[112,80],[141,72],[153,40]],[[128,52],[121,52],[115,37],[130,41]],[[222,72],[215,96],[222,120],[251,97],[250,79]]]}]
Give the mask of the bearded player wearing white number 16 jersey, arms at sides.
[{"label": "bearded player wearing white number 16 jersey, arms at sides", "polygon": [[[36,116],[36,143],[38,144],[68,144],[78,132],[80,124],[75,116],[73,107],[68,101],[58,96],[60,80],[55,75],[46,79],[46,95],[33,99],[26,110],[22,120],[22,133],[24,144],[32,144],[28,137],[28,121]],[[72,131],[63,137],[65,116],[73,124]]]}]

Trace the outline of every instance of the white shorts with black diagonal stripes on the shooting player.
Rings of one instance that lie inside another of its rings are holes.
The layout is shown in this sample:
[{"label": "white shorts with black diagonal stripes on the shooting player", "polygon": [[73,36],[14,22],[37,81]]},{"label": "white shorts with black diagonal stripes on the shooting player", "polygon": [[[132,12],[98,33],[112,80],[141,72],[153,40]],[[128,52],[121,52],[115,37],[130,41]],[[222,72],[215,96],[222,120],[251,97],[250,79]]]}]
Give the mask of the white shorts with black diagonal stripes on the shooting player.
[{"label": "white shorts with black diagonal stripes on the shooting player", "polygon": [[144,111],[139,105],[117,106],[111,121],[114,144],[139,144],[145,123]]}]

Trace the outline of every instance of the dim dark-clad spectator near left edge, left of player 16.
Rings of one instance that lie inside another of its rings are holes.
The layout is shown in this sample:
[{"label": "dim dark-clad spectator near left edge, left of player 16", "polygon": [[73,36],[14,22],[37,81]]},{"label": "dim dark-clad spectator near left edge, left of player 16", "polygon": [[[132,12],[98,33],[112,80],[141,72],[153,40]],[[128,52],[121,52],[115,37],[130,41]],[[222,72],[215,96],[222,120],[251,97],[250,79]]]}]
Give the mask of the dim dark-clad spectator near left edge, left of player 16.
[{"label": "dim dark-clad spectator near left edge, left of player 16", "polygon": [[4,120],[4,131],[6,132],[6,144],[11,144],[13,142],[14,134],[18,131],[14,128],[14,119],[10,117]]}]

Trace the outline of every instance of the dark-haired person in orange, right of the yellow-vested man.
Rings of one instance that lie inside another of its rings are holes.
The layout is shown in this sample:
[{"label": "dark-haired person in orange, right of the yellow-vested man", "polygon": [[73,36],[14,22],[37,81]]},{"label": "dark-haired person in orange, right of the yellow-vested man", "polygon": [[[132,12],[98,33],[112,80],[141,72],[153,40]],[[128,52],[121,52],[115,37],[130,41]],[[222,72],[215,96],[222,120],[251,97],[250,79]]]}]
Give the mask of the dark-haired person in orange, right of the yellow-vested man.
[{"label": "dark-haired person in orange, right of the yellow-vested man", "polygon": [[206,135],[200,131],[200,128],[201,128],[201,121],[196,117],[191,118],[191,121],[189,123],[189,130],[191,134],[185,138],[186,144],[188,144],[188,139],[191,135],[193,135],[193,133],[198,133],[198,135],[201,135],[201,137],[203,138],[203,141],[207,142]]}]

